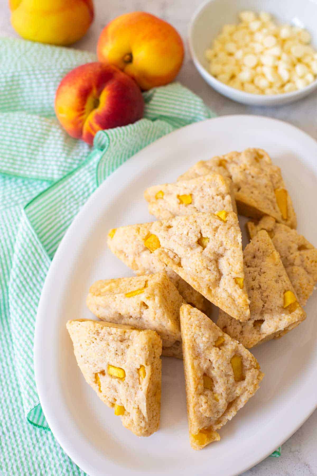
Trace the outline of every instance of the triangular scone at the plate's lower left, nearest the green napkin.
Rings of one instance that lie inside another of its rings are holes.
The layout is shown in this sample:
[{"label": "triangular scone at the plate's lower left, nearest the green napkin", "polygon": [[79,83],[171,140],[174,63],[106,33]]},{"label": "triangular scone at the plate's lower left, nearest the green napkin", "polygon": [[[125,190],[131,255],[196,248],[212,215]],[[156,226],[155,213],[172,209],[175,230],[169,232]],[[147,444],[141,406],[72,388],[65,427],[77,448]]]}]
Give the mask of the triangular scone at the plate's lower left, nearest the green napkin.
[{"label": "triangular scone at the plate's lower left, nearest the green napkin", "polygon": [[98,397],[137,436],[158,430],[162,340],[153,330],[73,320],[67,330],[77,364]]}]

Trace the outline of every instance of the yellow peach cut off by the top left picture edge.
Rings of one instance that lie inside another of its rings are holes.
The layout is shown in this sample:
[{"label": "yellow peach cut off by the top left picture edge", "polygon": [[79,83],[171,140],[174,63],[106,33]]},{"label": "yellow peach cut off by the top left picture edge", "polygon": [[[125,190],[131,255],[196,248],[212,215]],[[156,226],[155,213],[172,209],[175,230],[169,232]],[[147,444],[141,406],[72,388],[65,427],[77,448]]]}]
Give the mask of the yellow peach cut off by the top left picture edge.
[{"label": "yellow peach cut off by the top left picture edge", "polygon": [[11,23],[25,40],[70,45],[94,19],[92,0],[9,0]]}]

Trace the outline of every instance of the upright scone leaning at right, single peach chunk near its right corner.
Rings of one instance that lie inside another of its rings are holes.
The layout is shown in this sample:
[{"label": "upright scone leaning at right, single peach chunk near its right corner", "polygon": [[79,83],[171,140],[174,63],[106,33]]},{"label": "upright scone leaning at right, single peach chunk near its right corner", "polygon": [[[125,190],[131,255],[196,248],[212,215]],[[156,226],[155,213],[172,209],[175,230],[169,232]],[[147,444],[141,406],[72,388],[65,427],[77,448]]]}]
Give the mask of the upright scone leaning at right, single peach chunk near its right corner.
[{"label": "upright scone leaning at right, single peach chunk near its right corner", "polygon": [[306,318],[306,313],[298,303],[279,253],[265,230],[259,231],[246,246],[243,258],[250,319],[238,322],[220,311],[217,325],[250,348],[282,337],[297,327]]}]

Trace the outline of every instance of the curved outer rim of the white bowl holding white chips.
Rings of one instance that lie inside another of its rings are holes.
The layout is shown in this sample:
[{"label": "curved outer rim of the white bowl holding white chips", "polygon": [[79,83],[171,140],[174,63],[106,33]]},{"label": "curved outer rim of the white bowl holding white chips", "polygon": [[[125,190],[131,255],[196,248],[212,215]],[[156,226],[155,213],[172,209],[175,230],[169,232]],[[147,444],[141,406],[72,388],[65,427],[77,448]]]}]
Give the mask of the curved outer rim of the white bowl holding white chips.
[{"label": "curved outer rim of the white bowl holding white chips", "polygon": [[[223,90],[223,93],[221,92],[221,94],[227,95],[226,92],[229,94],[232,94],[233,92],[234,95],[240,96],[241,99],[245,99],[249,103],[251,102],[252,98],[254,98],[254,100],[257,102],[261,101],[264,103],[264,102],[271,102],[273,99],[277,99],[277,100],[282,98],[294,99],[294,100],[297,98],[299,99],[299,97],[302,97],[303,94],[305,93],[309,94],[313,89],[317,87],[317,77],[316,77],[316,79],[314,79],[312,83],[305,86],[305,88],[297,89],[296,91],[283,92],[279,94],[256,94],[256,93],[241,91],[240,89],[233,88],[232,86],[228,86],[228,84],[222,83],[221,81],[219,81],[219,79],[215,78],[208,71],[208,69],[206,69],[203,66],[202,62],[198,59],[194,50],[194,46],[193,46],[193,36],[194,36],[193,28],[194,28],[195,22],[197,21],[197,18],[202,13],[202,11],[205,10],[207,5],[209,5],[210,3],[213,3],[214,1],[215,0],[206,0],[202,2],[202,4],[199,5],[198,8],[196,8],[196,10],[194,11],[188,26],[188,41],[189,41],[189,50],[190,50],[190,54],[194,62],[194,65],[199,70],[199,72],[201,72],[202,76],[206,75],[209,78],[211,83],[217,87],[218,92],[220,88]],[[212,41],[212,38],[211,38],[211,41]]]}]

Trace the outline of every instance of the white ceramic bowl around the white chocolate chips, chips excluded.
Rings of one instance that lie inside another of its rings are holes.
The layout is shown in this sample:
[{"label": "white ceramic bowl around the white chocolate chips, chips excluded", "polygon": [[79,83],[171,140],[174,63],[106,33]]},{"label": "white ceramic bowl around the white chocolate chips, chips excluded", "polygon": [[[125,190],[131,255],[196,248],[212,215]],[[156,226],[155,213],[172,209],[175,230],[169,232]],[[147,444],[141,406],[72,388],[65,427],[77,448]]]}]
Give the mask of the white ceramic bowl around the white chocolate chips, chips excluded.
[{"label": "white ceramic bowl around the white chocolate chips, chips excluded", "polygon": [[189,44],[192,60],[199,73],[218,92],[244,104],[276,106],[307,96],[316,89],[317,80],[294,92],[285,94],[251,94],[231,88],[218,81],[208,71],[205,50],[226,23],[237,23],[242,10],[267,11],[279,23],[288,23],[306,28],[312,37],[312,46],[317,46],[317,2],[315,0],[211,0],[203,3],[194,13],[189,27]]}]

